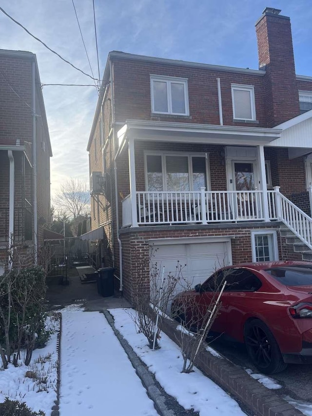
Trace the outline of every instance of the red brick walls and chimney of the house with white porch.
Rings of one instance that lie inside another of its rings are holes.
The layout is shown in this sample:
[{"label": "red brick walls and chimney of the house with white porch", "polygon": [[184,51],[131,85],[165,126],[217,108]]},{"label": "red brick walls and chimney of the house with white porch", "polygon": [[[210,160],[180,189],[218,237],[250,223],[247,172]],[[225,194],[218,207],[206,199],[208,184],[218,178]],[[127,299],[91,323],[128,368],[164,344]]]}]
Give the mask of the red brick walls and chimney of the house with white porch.
[{"label": "red brick walls and chimney of the house with white porch", "polygon": [[[217,79],[220,79],[222,115],[224,126],[270,128],[300,114],[298,90],[312,91],[312,78],[302,79],[295,74],[292,50],[291,24],[287,17],[266,11],[256,23],[256,35],[260,70],[217,67],[170,59],[138,57],[136,55],[112,52],[104,74],[103,88],[88,148],[91,172],[103,172],[104,195],[93,196],[91,200],[92,229],[104,227],[105,238],[101,242],[101,254],[105,265],[115,267],[115,275],[120,276],[119,242],[122,246],[123,294],[129,300],[134,298],[134,282],[141,273],[138,266],[149,255],[148,240],[151,238],[214,237],[235,235],[232,239],[233,263],[252,260],[251,230],[275,229],[276,222],[252,222],[228,224],[228,226],[154,226],[121,229],[122,200],[130,194],[129,149],[127,144],[119,148],[118,131],[127,120],[189,123],[197,125],[220,125]],[[161,115],[152,113],[151,75],[187,79],[189,96],[189,116]],[[255,120],[234,119],[231,84],[254,87]],[[105,91],[105,94],[104,94]],[[102,120],[102,121],[101,121]],[[100,144],[100,122],[103,123],[103,144]],[[144,172],[144,152],[185,152],[185,154],[207,154],[209,159],[208,188],[212,191],[228,189],[226,145],[219,142],[196,142],[189,139],[179,142],[170,138],[136,139],[135,180],[136,190],[146,191]],[[235,141],[231,146],[235,146]],[[229,145],[229,143],[228,143]],[[246,140],[246,145],[250,143]],[[240,144],[242,146],[242,144]],[[119,150],[118,150],[119,149]],[[117,154],[118,152],[118,154]],[[305,212],[309,211],[306,198],[305,157],[289,158],[286,147],[264,148],[265,159],[270,162],[271,182],[269,187],[280,186],[280,191],[292,198]],[[104,156],[104,162],[103,162]],[[114,160],[116,158],[116,162]],[[117,183],[115,183],[115,177]],[[117,199],[117,206],[116,206]],[[117,216],[118,211],[118,218]],[[117,232],[117,227],[118,231]],[[279,234],[278,234],[279,236]],[[279,258],[297,258],[278,237]],[[146,268],[148,290],[149,271]]]}]

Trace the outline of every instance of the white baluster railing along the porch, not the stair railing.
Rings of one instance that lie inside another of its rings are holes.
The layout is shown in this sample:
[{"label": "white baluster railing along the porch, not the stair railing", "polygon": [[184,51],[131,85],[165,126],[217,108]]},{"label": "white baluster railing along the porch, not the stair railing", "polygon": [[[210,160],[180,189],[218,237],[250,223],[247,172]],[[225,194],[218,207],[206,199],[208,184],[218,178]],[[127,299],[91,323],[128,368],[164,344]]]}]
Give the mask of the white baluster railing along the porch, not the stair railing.
[{"label": "white baluster railing along the porch, not the stair railing", "polygon": [[137,192],[134,220],[132,203],[131,195],[122,201],[123,227],[265,219],[263,191]]}]

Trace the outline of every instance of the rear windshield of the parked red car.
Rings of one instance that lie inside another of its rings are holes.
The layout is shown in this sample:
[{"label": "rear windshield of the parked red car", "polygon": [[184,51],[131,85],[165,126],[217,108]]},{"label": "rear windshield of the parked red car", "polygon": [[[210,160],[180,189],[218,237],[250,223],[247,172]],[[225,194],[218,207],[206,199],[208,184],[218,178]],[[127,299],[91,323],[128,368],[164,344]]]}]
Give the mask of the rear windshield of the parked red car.
[{"label": "rear windshield of the parked red car", "polygon": [[312,285],[311,266],[272,267],[265,271],[286,286]]}]

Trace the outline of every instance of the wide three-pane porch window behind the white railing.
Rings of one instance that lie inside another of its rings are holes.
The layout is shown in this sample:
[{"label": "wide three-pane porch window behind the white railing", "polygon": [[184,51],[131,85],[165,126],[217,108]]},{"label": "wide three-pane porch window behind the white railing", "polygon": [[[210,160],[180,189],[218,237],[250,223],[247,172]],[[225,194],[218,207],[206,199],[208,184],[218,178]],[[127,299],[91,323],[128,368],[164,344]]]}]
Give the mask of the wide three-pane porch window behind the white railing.
[{"label": "wide three-pane porch window behind the white railing", "polygon": [[147,191],[200,191],[208,187],[208,159],[204,154],[146,154]]}]

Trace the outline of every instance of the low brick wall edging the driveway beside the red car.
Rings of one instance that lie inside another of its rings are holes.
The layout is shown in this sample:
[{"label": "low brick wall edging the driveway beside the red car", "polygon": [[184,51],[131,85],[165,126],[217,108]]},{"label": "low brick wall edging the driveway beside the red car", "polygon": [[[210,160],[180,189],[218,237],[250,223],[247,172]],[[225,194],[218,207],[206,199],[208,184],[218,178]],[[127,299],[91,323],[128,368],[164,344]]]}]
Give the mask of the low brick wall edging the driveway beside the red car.
[{"label": "low brick wall edging the driveway beside the red car", "polygon": [[[181,333],[176,330],[177,322],[166,317],[161,317],[161,320],[161,330],[180,346]],[[214,357],[206,350],[200,351],[195,360],[195,366],[242,402],[253,412],[254,416],[304,415],[228,359]]]}]

